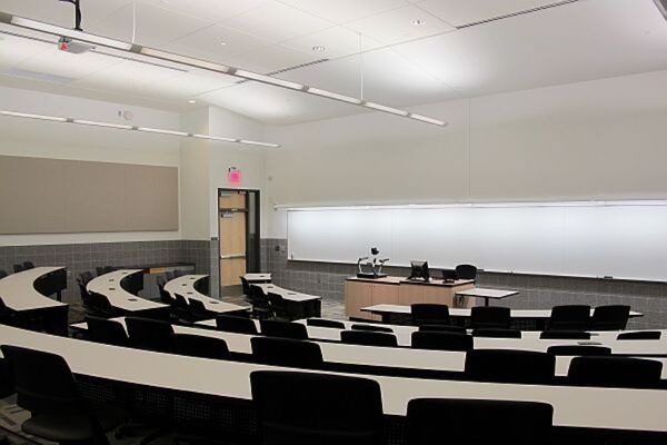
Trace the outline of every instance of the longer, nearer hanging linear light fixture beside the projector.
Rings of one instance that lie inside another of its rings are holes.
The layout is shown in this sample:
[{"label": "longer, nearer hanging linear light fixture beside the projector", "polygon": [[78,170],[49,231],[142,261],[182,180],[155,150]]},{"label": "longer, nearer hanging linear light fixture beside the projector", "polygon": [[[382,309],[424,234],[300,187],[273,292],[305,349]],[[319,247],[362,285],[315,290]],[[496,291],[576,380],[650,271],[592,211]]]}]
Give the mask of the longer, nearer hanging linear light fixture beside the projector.
[{"label": "longer, nearer hanging linear light fixture beside the projector", "polygon": [[[422,20],[419,20],[419,21],[424,22]],[[431,123],[431,125],[437,125],[437,126],[446,125],[446,122],[438,120],[438,119],[431,119],[431,118],[422,117],[419,115],[412,115],[405,110],[399,110],[399,109],[382,106],[379,103],[366,102],[361,99],[350,98],[345,95],[339,95],[337,92],[327,91],[327,90],[322,90],[319,88],[310,88],[305,85],[292,82],[289,80],[278,79],[278,78],[275,78],[271,76],[265,76],[265,75],[260,75],[257,72],[247,71],[247,70],[242,70],[242,69],[238,69],[238,68],[233,68],[233,67],[228,67],[228,66],[221,65],[221,63],[215,63],[215,62],[209,62],[206,60],[195,59],[195,58],[187,57],[187,56],[175,55],[175,53],[161,51],[158,49],[142,47],[140,44],[132,44],[132,43],[127,43],[127,42],[119,41],[119,40],[108,39],[108,38],[94,36],[94,34],[89,34],[87,32],[74,31],[71,29],[57,27],[57,26],[49,24],[49,23],[42,23],[39,21],[30,20],[30,19],[23,19],[21,17],[16,17],[16,16],[7,13],[7,12],[0,12],[0,23],[7,23],[7,24],[12,24],[16,27],[20,27],[20,28],[24,28],[24,29],[29,29],[29,30],[33,30],[33,31],[46,32],[46,33],[49,33],[52,36],[57,36],[59,38],[66,37],[66,38],[72,39],[72,40],[98,44],[98,46],[107,47],[107,48],[113,48],[113,49],[118,49],[118,50],[122,50],[122,51],[127,51],[127,52],[131,52],[131,53],[136,53],[136,55],[150,57],[153,59],[160,59],[160,60],[168,61],[168,62],[185,65],[188,67],[199,68],[199,69],[213,71],[213,72],[218,72],[218,73],[222,73],[222,75],[229,75],[229,76],[238,77],[241,79],[252,80],[252,81],[257,81],[257,82],[261,82],[261,83],[266,83],[266,85],[270,85],[270,86],[275,86],[275,87],[287,88],[289,90],[301,91],[301,92],[310,93],[313,96],[323,97],[327,99],[332,99],[332,100],[338,100],[338,101],[342,101],[342,102],[347,102],[347,103],[351,103],[351,105],[356,105],[356,106],[361,106],[361,107],[374,109],[377,111],[388,112],[388,113],[395,115],[395,116],[415,119],[415,120],[426,122],[426,123]]]}]

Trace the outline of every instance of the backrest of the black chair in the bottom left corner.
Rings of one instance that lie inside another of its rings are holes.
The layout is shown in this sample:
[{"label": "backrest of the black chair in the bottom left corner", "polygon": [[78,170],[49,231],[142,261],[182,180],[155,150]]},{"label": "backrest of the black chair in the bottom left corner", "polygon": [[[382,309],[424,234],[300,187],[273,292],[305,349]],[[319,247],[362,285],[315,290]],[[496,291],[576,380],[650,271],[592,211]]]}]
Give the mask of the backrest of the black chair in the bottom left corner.
[{"label": "backrest of the black chair in the bottom left corner", "polygon": [[74,376],[59,355],[17,346],[0,346],[14,377],[17,404],[40,414],[84,412]]}]

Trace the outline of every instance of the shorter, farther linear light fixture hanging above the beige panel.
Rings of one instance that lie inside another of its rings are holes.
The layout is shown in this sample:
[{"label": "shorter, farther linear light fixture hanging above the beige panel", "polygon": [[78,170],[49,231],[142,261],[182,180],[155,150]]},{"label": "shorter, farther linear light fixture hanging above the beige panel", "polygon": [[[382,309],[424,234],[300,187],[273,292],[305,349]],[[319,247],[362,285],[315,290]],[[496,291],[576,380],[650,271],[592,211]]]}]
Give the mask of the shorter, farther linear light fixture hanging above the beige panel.
[{"label": "shorter, farther linear light fixture hanging above the beige panel", "polygon": [[150,134],[156,134],[156,135],[208,139],[208,140],[216,140],[216,141],[221,141],[221,142],[243,144],[243,145],[249,145],[249,146],[260,146],[260,147],[271,147],[271,148],[280,147],[280,145],[278,145],[278,144],[260,142],[257,140],[235,139],[235,138],[226,138],[222,136],[210,136],[210,135],[192,135],[192,134],[185,132],[185,131],[165,130],[161,128],[132,127],[132,126],[122,125],[122,123],[100,122],[97,120],[84,120],[84,119],[73,119],[73,118],[61,118],[58,116],[36,115],[36,113],[30,113],[30,112],[0,110],[0,116],[7,116],[7,117],[12,117],[12,118],[23,118],[23,119],[47,120],[47,121],[51,121],[51,122],[77,123],[77,125],[89,126],[89,127],[110,128],[110,129],[115,129],[115,130],[135,130],[135,131],[143,131],[143,132],[150,132]]}]

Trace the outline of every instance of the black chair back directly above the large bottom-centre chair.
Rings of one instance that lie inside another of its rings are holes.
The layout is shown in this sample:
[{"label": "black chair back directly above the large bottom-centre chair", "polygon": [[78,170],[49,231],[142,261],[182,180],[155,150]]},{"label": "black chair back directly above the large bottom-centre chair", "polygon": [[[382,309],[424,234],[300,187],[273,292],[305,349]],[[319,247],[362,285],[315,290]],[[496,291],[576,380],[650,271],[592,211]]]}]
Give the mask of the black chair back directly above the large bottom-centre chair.
[{"label": "black chair back directly above the large bottom-centre chair", "polygon": [[257,363],[273,366],[293,366],[320,369],[322,352],[317,343],[291,338],[252,337],[252,357]]}]

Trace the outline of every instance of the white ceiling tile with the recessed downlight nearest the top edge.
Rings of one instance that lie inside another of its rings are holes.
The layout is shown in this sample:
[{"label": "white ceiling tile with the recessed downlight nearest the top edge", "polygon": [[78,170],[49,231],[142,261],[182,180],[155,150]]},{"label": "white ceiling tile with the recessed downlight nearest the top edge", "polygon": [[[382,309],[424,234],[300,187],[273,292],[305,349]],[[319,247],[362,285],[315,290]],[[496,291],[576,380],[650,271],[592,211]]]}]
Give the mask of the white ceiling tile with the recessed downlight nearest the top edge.
[{"label": "white ceiling tile with the recessed downlight nearest the top edge", "polygon": [[[422,20],[424,24],[412,23],[415,20]],[[354,21],[347,23],[346,27],[385,44],[395,44],[455,30],[448,23],[414,6]]]}]

